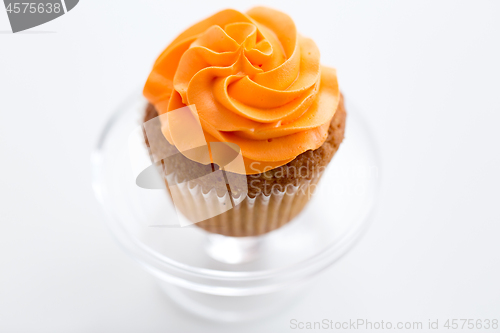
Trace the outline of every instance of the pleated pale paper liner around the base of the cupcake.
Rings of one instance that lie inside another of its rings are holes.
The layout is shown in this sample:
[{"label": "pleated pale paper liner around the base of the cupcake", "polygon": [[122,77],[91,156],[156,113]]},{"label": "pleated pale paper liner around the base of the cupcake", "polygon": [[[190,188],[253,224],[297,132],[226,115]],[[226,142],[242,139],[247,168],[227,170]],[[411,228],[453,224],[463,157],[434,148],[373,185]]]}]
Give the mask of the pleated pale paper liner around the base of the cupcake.
[{"label": "pleated pale paper liner around the base of the cupcake", "polygon": [[[310,200],[321,174],[301,179],[298,185],[274,188],[270,195],[233,196],[234,207],[228,192],[222,196],[215,189],[204,193],[193,181],[174,182],[174,175],[166,178],[167,186],[178,184],[176,191],[181,199],[174,200],[175,205],[191,223],[212,233],[244,237],[268,233],[292,220]],[[204,218],[207,216],[211,217]]]}]

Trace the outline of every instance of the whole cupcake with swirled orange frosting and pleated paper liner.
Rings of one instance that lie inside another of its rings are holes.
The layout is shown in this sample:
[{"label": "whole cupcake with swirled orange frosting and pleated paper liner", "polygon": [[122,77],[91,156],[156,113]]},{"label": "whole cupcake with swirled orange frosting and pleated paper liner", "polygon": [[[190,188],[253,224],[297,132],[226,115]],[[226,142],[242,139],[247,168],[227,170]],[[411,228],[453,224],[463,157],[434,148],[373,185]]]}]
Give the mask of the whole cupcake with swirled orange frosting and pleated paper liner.
[{"label": "whole cupcake with swirled orange frosting and pleated paper liner", "polygon": [[292,220],[344,138],[335,69],[269,8],[224,10],[181,33],[144,96],[146,145],[176,208],[225,236]]}]

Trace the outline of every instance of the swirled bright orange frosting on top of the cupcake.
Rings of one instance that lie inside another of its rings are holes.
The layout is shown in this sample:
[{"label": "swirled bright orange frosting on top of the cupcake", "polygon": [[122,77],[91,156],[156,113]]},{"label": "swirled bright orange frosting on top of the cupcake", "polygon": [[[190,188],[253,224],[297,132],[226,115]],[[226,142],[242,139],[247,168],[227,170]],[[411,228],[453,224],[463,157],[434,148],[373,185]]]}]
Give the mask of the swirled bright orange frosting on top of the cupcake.
[{"label": "swirled bright orange frosting on top of the cupcake", "polygon": [[163,51],[144,96],[160,115],[194,104],[206,141],[238,145],[245,173],[260,173],[326,140],[340,92],[319,58],[288,15],[223,10]]}]

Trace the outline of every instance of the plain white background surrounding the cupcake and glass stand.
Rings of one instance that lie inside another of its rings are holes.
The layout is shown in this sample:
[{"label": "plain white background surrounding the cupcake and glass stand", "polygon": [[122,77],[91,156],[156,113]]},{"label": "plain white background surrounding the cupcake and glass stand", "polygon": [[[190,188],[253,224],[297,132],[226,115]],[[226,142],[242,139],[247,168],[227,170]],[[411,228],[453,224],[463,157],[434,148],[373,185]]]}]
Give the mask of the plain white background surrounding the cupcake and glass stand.
[{"label": "plain white background surrounding the cupcake and glass stand", "polygon": [[383,163],[368,232],[295,307],[255,324],[202,321],[121,252],[90,185],[99,131],[177,33],[253,5],[82,0],[19,34],[0,9],[0,332],[500,319],[500,1],[269,2],[338,69]]}]

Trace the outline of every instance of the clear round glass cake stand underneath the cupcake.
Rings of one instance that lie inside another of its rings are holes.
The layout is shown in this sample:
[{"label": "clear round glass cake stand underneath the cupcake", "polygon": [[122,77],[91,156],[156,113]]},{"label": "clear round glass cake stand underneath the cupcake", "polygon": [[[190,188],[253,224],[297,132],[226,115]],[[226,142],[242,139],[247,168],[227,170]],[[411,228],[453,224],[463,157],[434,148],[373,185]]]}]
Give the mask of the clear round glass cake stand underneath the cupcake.
[{"label": "clear round glass cake stand underneath the cupcake", "polygon": [[346,137],[304,211],[276,231],[244,238],[180,227],[166,189],[136,185],[128,140],[145,105],[131,96],[107,122],[91,157],[93,188],[117,242],[182,308],[226,322],[270,315],[366,229],[380,164],[369,128],[348,99]]}]

